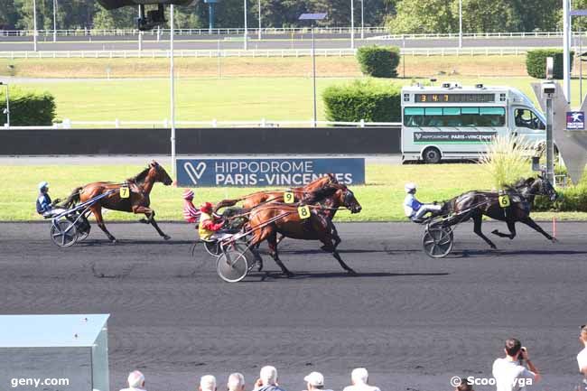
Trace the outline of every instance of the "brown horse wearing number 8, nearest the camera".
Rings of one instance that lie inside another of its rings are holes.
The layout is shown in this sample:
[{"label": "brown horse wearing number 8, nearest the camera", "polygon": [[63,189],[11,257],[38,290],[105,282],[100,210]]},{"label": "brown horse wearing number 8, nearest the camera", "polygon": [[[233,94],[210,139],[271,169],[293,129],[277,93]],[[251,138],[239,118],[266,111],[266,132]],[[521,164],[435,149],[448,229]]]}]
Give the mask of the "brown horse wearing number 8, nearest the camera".
[{"label": "brown horse wearing number 8, nearest the camera", "polygon": [[[344,270],[355,274],[355,271],[340,258],[336,249],[338,243],[333,235],[333,232],[335,232],[333,230],[334,225],[326,212],[343,206],[348,208],[351,213],[359,213],[361,206],[353,192],[346,186],[339,185],[338,187],[338,189],[333,190],[331,196],[323,204],[312,206],[310,217],[307,219],[301,219],[298,214],[298,205],[292,204],[272,202],[260,205],[251,210],[248,228],[253,231],[253,237],[249,242],[249,247],[255,248],[256,245],[266,240],[275,263],[279,265],[284,275],[290,277],[293,275],[292,272],[279,259],[277,252],[277,234],[279,233],[285,237],[292,237],[294,239],[320,240],[323,244],[321,248],[324,251],[331,253],[339,261],[339,264]],[[269,221],[272,222],[267,224]],[[340,242],[340,238],[338,241]],[[261,262],[258,253],[256,256],[259,262]]]}]

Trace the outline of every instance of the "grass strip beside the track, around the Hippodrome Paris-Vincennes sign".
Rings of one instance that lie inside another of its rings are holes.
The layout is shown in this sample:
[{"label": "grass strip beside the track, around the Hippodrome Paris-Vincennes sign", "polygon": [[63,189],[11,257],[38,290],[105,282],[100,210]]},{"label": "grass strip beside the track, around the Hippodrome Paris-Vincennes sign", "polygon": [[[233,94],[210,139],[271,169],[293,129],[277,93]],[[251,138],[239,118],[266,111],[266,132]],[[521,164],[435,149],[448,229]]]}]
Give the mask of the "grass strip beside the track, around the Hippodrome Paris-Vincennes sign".
[{"label": "grass strip beside the track, around the Hippodrome Paris-Vincennes sign", "polygon": [[[75,187],[88,182],[121,182],[139,172],[139,166],[2,166],[0,175],[4,179],[0,187],[0,221],[40,220],[34,209],[36,185],[47,181],[51,184],[51,197],[65,198]],[[429,202],[447,200],[463,191],[489,189],[488,172],[483,172],[477,164],[423,165],[384,165],[372,164],[367,167],[365,186],[352,186],[352,190],[363,210],[350,215],[340,211],[337,219],[341,221],[406,221],[402,202],[405,197],[405,182],[417,182],[418,198]],[[198,188],[195,190],[195,203],[210,200],[217,202],[233,198],[256,189],[216,189]],[[152,207],[158,219],[182,220],[182,189],[156,184],[152,193]],[[587,219],[587,213],[536,213],[537,219]],[[108,212],[105,219],[136,220],[130,213]]]}]

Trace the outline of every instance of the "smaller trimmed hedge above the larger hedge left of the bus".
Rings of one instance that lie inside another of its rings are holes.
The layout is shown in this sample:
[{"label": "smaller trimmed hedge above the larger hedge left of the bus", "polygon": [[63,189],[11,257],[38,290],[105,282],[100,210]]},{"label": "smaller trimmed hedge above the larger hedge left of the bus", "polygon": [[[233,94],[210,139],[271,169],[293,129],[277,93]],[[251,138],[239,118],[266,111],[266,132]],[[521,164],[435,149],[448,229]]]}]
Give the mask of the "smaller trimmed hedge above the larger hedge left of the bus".
[{"label": "smaller trimmed hedge above the larger hedge left of the bus", "polygon": [[399,64],[399,48],[396,46],[361,46],[357,61],[364,75],[375,78],[396,78]]}]

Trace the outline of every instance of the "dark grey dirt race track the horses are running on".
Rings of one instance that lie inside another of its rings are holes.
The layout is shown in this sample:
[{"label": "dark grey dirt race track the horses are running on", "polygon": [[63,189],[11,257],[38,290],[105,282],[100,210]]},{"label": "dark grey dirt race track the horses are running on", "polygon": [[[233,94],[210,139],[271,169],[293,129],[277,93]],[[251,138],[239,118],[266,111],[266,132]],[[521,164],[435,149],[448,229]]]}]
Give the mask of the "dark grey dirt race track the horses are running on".
[{"label": "dark grey dirt race track the horses are running on", "polygon": [[118,244],[94,226],[86,242],[61,249],[49,222],[0,224],[0,313],[110,313],[111,390],[134,368],[149,390],[194,390],[208,373],[224,390],[232,371],[248,390],[272,364],[288,391],[302,390],[312,370],[340,390],[359,366],[383,391],[443,391],[455,375],[490,377],[510,336],[544,372],[531,390],[572,390],[580,380],[585,223],[559,223],[556,244],[518,226],[513,241],[495,237],[497,251],[463,224],[442,260],[424,255],[415,224],[339,224],[340,254],[358,276],[318,243],[286,240],[281,257],[294,278],[265,255],[269,275],[238,284],[223,283],[202,248],[190,255],[193,228],[161,226],[172,240],[110,224]]}]

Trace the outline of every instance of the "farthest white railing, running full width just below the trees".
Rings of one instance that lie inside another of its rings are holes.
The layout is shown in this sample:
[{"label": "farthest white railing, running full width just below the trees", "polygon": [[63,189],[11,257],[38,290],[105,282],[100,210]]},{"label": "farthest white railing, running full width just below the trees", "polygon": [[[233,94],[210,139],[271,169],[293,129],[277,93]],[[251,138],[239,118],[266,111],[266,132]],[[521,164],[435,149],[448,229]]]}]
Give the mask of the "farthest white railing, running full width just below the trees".
[{"label": "farthest white railing, running full width just below the trees", "polygon": [[[355,33],[360,33],[361,28],[355,27]],[[258,29],[251,28],[247,29],[250,35],[258,34]],[[316,27],[315,33],[350,33],[350,27]],[[144,35],[169,35],[169,29],[154,29],[143,32]],[[405,39],[440,39],[440,38],[458,38],[459,33],[415,33],[415,34],[387,34],[388,30],[386,27],[364,27],[365,33],[382,33],[386,34],[380,39],[393,39],[401,40]],[[57,30],[58,37],[83,37],[83,36],[135,36],[138,35],[139,31],[136,29],[110,29],[110,30],[98,30],[98,29],[77,29],[77,30]],[[177,35],[224,35],[224,34],[244,34],[244,28],[224,28],[224,29],[175,29]],[[310,33],[308,27],[291,27],[291,28],[273,28],[267,27],[261,29],[261,34],[291,34],[291,33]],[[33,30],[0,30],[0,40],[2,37],[27,37],[33,36]],[[463,33],[465,38],[562,38],[562,32],[526,32],[526,33]],[[573,36],[578,37],[580,35],[587,36],[587,32],[573,32]],[[37,30],[37,36],[52,37],[52,30]]]}]

